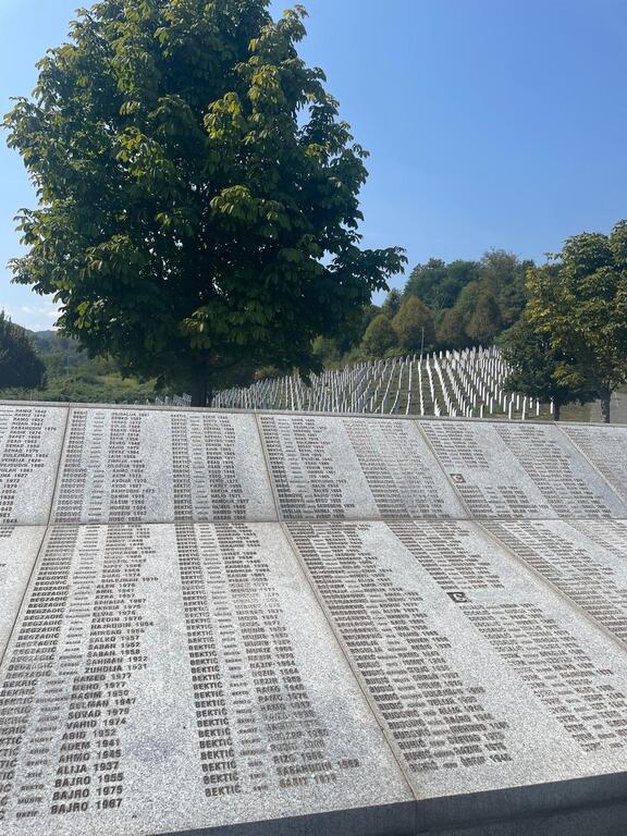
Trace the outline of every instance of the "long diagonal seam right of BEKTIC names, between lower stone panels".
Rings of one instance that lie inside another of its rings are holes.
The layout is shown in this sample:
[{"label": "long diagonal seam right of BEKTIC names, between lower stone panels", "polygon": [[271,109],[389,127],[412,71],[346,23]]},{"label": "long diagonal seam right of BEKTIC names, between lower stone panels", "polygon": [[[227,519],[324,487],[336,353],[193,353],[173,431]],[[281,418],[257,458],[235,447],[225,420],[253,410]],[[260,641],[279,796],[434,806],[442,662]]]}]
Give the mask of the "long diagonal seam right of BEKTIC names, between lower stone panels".
[{"label": "long diagonal seam right of BEKTIC names, between lower stone panels", "polygon": [[[298,520],[304,521],[304,520]],[[339,524],[346,524],[349,520],[318,520],[319,522],[339,522]],[[357,520],[353,520],[357,521]],[[381,520],[378,520],[381,522]],[[411,783],[411,774],[409,770],[405,766],[402,755],[397,752],[396,743],[394,742],[394,738],[389,732],[389,729],[385,727],[385,722],[383,717],[381,716],[381,713],[379,711],[379,708],[370,693],[368,686],[366,685],[366,681],[364,680],[364,677],[359,673],[359,669],[357,666],[353,663],[345,643],[344,639],[342,638],[342,634],[335,626],[335,619],[333,618],[331,612],[329,611],[329,607],[327,606],[327,602],[324,601],[322,594],[318,590],[318,586],[316,581],[314,580],[314,577],[311,576],[311,573],[309,571],[309,568],[307,567],[307,564],[305,563],[300,550],[298,549],[296,542],[294,541],[294,538],[292,537],[292,532],[290,531],[290,528],[286,522],[281,521],[279,524],[281,526],[281,530],[283,532],[283,536],[287,540],[287,544],[290,545],[295,558],[296,563],[298,564],[298,567],[300,568],[300,571],[303,573],[305,580],[307,581],[309,589],[311,590],[311,593],[315,598],[315,600],[318,602],[318,606],[320,607],[320,611],[322,613],[322,616],[324,620],[327,622],[329,629],[331,630],[331,634],[335,640],[335,643],[337,644],[337,648],[340,649],[340,653],[342,654],[344,661],[346,662],[346,665],[348,667],[348,671],[351,672],[354,681],[356,683],[359,691],[364,696],[364,699],[366,701],[366,704],[368,709],[370,710],[370,714],[374,718],[374,722],[381,729],[381,734],[383,736],[383,739],[385,740],[385,743],[388,745],[388,749],[390,750],[390,753],[392,754],[392,758],[396,765],[398,766],[398,770],[401,771],[401,775],[403,776],[403,779],[405,780],[405,784],[407,785],[407,788],[409,790],[409,794],[411,798],[414,799],[414,806],[415,806],[415,812],[414,812],[414,829],[415,833],[418,833],[418,802],[420,799],[418,798],[417,792],[414,789],[414,785]]]}]

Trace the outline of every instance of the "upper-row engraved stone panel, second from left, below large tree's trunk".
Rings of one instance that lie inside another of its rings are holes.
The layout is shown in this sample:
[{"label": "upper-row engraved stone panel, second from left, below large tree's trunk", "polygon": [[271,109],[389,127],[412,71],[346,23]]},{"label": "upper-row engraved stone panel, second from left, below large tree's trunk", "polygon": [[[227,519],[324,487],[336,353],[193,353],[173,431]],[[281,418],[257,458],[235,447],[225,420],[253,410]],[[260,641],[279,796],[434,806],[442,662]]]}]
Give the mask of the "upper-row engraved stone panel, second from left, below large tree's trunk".
[{"label": "upper-row engraved stone panel, second from left, below large tree's trunk", "polygon": [[275,518],[254,416],[72,409],[54,522]]}]

